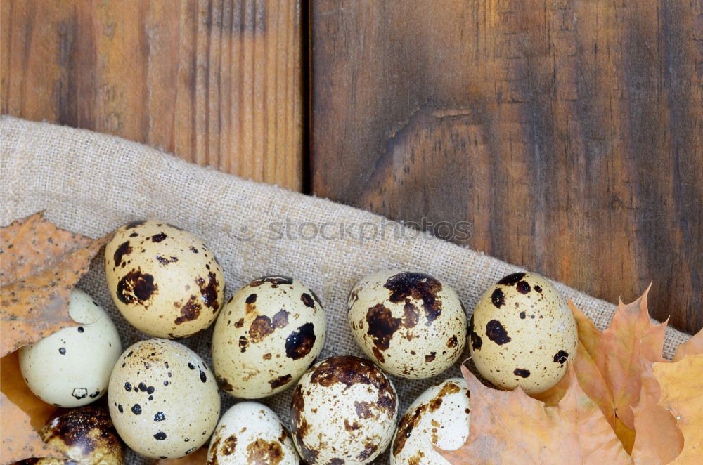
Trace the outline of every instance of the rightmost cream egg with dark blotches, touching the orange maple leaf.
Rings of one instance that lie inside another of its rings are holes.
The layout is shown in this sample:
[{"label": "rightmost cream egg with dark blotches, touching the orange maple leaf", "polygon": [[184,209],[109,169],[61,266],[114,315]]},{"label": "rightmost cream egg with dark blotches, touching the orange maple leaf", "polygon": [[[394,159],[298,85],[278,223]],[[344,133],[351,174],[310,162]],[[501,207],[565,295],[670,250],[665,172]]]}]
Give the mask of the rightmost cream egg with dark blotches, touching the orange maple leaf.
[{"label": "rightmost cream egg with dark blotches, touching the orange maple leaf", "polygon": [[564,297],[540,275],[513,273],[479,299],[470,325],[470,353],[499,388],[541,393],[576,355],[576,320]]}]

